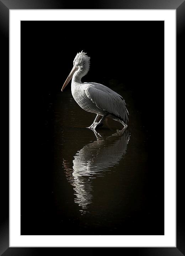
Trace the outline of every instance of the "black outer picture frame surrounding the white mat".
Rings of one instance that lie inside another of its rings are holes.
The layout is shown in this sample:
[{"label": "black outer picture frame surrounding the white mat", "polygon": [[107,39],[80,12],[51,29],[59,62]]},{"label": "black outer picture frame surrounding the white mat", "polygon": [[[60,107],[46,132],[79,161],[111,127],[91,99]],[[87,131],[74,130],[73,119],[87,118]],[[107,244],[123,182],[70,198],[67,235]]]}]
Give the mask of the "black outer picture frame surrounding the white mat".
[{"label": "black outer picture frame surrounding the white mat", "polygon": [[[0,42],[1,42],[1,63],[2,72],[1,79],[4,80],[5,91],[9,88],[9,9],[72,9],[72,3],[67,0],[0,0]],[[73,9],[176,9],[176,61],[177,61],[177,83],[184,85],[184,65],[185,52],[185,0],[132,0],[132,1],[92,1],[88,3],[75,1]],[[1,83],[2,84],[2,83]],[[4,116],[2,116],[4,115]],[[7,115],[1,112],[2,119],[6,120]],[[5,134],[5,133],[4,133]],[[6,165],[4,165],[6,166]],[[3,171],[1,171],[2,173]],[[64,248],[28,248],[28,247],[10,247],[9,248],[9,172],[6,169],[2,173],[3,186],[1,184],[1,213],[0,220],[0,255],[61,255]],[[126,255],[185,255],[185,225],[183,211],[183,192],[184,192],[184,172],[183,170],[177,173],[177,198],[176,198],[176,246],[177,247],[152,247],[152,248],[127,248],[122,247],[122,253]],[[75,251],[74,251],[75,250]],[[69,248],[70,253],[76,253],[79,249]],[[93,254],[96,248],[88,250],[88,253]],[[69,252],[68,251],[68,252]]]}]

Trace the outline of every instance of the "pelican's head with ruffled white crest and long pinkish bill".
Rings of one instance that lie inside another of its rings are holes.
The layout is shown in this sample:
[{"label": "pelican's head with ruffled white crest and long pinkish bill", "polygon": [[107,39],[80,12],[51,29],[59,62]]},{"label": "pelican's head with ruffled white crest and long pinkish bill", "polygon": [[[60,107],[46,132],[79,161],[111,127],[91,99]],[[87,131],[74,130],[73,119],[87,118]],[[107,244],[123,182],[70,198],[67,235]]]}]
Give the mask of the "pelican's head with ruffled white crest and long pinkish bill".
[{"label": "pelican's head with ruffled white crest and long pinkish bill", "polygon": [[86,75],[89,71],[89,65],[90,65],[90,57],[86,55],[83,51],[80,53],[77,53],[74,60],[73,60],[73,68],[68,75],[67,79],[65,80],[65,83],[62,87],[62,91],[66,87],[66,85],[70,82],[73,75],[76,79],[80,80],[84,75]]}]

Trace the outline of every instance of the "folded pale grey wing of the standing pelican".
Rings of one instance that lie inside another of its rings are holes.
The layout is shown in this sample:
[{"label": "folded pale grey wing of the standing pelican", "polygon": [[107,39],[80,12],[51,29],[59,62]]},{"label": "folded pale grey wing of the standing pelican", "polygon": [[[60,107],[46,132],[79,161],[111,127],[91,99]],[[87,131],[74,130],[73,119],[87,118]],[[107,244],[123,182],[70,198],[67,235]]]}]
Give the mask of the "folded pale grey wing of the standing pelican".
[{"label": "folded pale grey wing of the standing pelican", "polygon": [[105,85],[96,83],[87,83],[85,93],[98,108],[107,111],[127,123],[128,110],[125,100],[121,95]]}]

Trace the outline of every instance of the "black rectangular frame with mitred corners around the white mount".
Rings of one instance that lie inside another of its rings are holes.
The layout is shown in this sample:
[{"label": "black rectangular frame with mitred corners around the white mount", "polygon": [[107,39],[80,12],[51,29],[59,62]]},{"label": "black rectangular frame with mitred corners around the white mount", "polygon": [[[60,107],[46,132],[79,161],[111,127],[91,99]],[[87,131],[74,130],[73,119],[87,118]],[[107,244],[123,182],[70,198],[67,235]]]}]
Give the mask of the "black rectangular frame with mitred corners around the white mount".
[{"label": "black rectangular frame with mitred corners around the white mount", "polygon": [[[141,3],[141,2],[140,2]],[[179,4],[179,5],[178,5]],[[65,7],[64,7],[65,6]],[[106,7],[107,6],[107,7]],[[178,3],[177,1],[171,1],[170,3],[143,3],[142,5],[138,5],[138,3],[107,3],[106,6],[101,4],[92,5],[89,4],[88,9],[176,9],[176,32],[177,32],[177,82],[182,83],[183,81],[183,67],[180,65],[181,60],[183,60],[183,29],[185,27],[185,1],[183,3]],[[115,7],[114,7],[115,6]],[[79,9],[80,5],[73,7],[73,9]],[[81,6],[82,8],[83,6]],[[140,7],[140,8],[139,8]],[[8,88],[9,83],[9,10],[10,9],[68,9],[68,4],[64,3],[64,1],[55,1],[52,4],[46,4],[44,1],[37,1],[37,3],[31,3],[31,1],[0,1],[0,21],[1,21],[1,42],[2,47],[4,49],[4,56],[2,57],[2,63],[4,63],[4,72],[2,72],[2,77],[5,81],[6,88]],[[71,9],[71,8],[70,8]],[[87,8],[82,8],[87,9]],[[134,253],[137,255],[183,255],[185,254],[185,244],[183,237],[184,226],[183,226],[183,210],[181,205],[181,196],[183,195],[183,177],[182,173],[178,173],[177,175],[177,214],[176,214],[176,245],[177,247],[171,248],[122,248],[122,252],[124,253]],[[59,254],[63,248],[17,248],[10,247],[9,248],[9,190],[8,190],[8,171],[4,173],[4,186],[2,186],[2,191],[4,191],[3,195],[3,213],[1,221],[1,251],[0,255],[37,255],[37,253],[44,254]],[[6,192],[5,192],[6,191]],[[1,193],[2,195],[2,193]],[[71,250],[75,250],[71,248]],[[87,249],[86,249],[87,250]],[[93,248],[95,250],[95,248]],[[45,251],[45,252],[44,252]]]}]

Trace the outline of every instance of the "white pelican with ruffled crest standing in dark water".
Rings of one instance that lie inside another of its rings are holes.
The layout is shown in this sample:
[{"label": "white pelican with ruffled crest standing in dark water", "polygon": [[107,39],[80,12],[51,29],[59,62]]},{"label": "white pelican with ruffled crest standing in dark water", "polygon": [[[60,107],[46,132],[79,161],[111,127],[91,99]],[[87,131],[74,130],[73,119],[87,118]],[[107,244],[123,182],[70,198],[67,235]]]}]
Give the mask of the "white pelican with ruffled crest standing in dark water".
[{"label": "white pelican with ruffled crest standing in dark water", "polygon": [[105,85],[81,82],[81,78],[89,71],[89,65],[90,57],[83,51],[77,53],[73,61],[73,68],[65,80],[62,91],[72,79],[71,92],[75,101],[82,109],[96,114],[94,122],[88,128],[95,131],[102,125],[106,117],[120,122],[126,128],[128,110],[122,96]]}]

